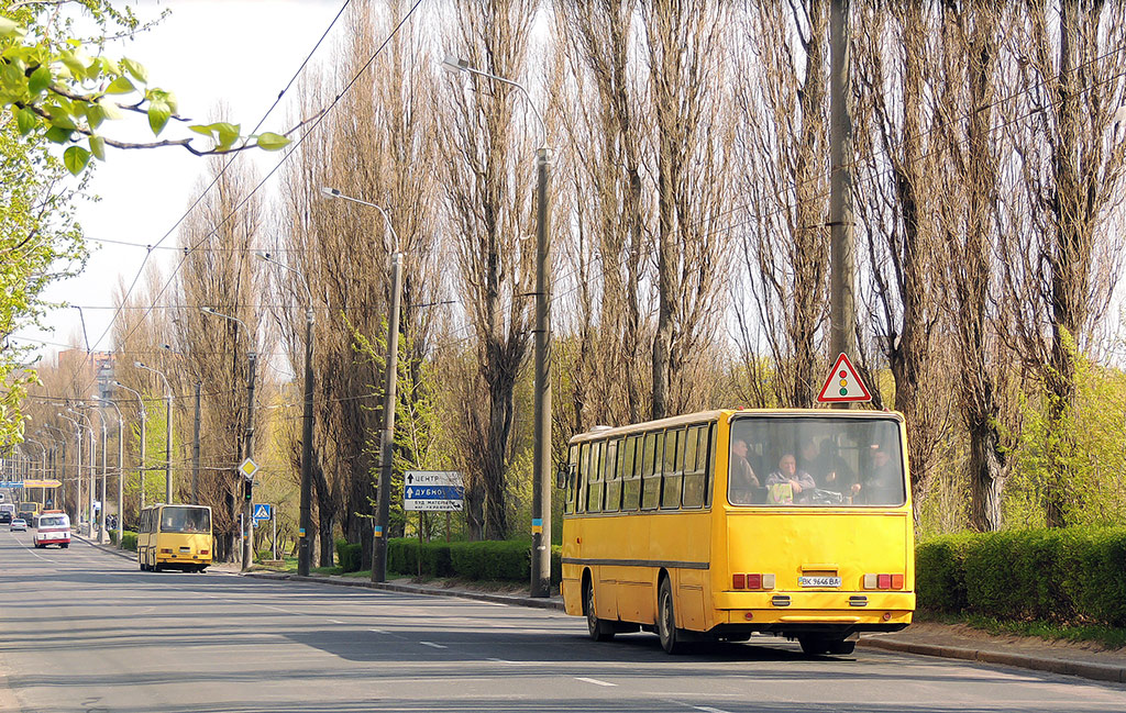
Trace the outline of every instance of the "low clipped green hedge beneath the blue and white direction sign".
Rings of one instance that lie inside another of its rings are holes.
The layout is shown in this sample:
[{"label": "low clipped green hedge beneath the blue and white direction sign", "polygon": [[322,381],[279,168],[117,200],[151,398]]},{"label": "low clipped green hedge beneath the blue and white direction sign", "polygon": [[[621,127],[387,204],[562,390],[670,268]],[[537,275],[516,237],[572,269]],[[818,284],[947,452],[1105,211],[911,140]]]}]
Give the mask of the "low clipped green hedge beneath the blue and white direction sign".
[{"label": "low clipped green hedge beneath the blue and white direction sign", "polygon": [[[552,548],[552,581],[562,580],[561,552],[561,548]],[[413,538],[392,538],[387,540],[387,569],[400,575],[421,571],[427,577],[528,581],[531,540],[423,542],[420,545]]]}]

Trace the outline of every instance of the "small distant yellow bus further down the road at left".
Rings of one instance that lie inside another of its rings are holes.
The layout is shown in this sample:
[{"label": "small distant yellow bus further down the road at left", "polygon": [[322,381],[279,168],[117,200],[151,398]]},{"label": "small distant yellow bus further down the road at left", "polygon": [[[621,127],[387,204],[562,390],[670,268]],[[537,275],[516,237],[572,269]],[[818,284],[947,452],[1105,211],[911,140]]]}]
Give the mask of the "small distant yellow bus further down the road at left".
[{"label": "small distant yellow bus further down the road at left", "polygon": [[206,505],[152,505],[141,511],[137,565],[142,571],[204,571],[212,563],[211,508]]}]

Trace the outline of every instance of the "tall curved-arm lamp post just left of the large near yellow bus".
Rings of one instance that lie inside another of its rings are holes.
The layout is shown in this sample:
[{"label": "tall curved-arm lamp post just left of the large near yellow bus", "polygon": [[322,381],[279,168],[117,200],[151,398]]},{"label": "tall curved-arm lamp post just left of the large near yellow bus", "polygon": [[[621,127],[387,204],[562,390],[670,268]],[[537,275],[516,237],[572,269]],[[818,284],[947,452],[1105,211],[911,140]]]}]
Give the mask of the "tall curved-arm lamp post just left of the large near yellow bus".
[{"label": "tall curved-arm lamp post just left of the large near yellow bus", "polygon": [[470,66],[465,60],[447,55],[443,66],[515,87],[527,100],[539,123],[536,150],[536,327],[535,327],[535,416],[531,461],[531,590],[534,597],[551,596],[552,540],[552,382],[551,382],[551,246],[547,243],[547,125],[528,90],[510,79]]}]

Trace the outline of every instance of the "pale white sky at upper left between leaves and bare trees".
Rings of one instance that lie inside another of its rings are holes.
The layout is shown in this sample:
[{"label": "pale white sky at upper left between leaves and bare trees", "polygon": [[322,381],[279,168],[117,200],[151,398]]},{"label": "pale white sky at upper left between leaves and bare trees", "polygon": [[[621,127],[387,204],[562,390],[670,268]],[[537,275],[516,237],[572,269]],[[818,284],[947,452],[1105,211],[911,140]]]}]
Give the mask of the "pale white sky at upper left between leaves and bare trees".
[{"label": "pale white sky at upper left between leaves and bare trees", "polygon": [[[224,118],[241,124],[248,133],[301,67],[345,0],[134,0],[128,4],[142,20],[155,19],[166,8],[171,15],[155,29],[113,46],[106,54],[144,64],[152,85],[177,94],[182,116],[207,123],[222,105],[226,107]],[[347,13],[316,51],[313,64],[331,57],[340,33],[346,31]],[[261,130],[283,133],[288,128],[287,119],[283,102]],[[109,136],[136,142],[152,138],[144,123],[113,124],[104,127]],[[175,134],[173,138],[188,135],[185,129],[167,129],[161,138],[166,134]],[[283,155],[251,151],[240,160],[253,161],[265,175]],[[53,285],[45,295],[48,301],[82,306],[81,317],[73,307],[55,309],[45,319],[53,331],[25,328],[19,336],[59,344],[77,337],[84,343],[84,319],[90,348],[111,349],[113,335],[107,328],[114,312],[108,307],[114,304],[115,288],[120,281],[126,287],[133,281],[149,252],[145,246],[157,244],[198,196],[194,189],[206,172],[206,162],[179,147],[108,148],[107,161],[98,164],[90,188],[100,200],[78,209],[91,258],[80,276]],[[277,177],[265,188],[275,189],[276,181]],[[175,232],[162,243],[177,244]],[[170,267],[176,255],[171,250],[157,250],[150,260]],[[44,355],[62,348],[45,344],[41,349]]]}]

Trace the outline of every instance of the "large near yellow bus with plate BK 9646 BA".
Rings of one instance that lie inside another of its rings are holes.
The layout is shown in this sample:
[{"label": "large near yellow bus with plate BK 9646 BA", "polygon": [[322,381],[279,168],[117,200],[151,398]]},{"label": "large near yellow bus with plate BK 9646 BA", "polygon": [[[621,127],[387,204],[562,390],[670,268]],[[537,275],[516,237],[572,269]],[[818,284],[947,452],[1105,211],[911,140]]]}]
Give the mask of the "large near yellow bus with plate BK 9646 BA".
[{"label": "large near yellow bus with plate BK 9646 BA", "polygon": [[797,640],[848,655],[914,611],[903,417],[712,410],[571,439],[563,599],[596,641]]}]

